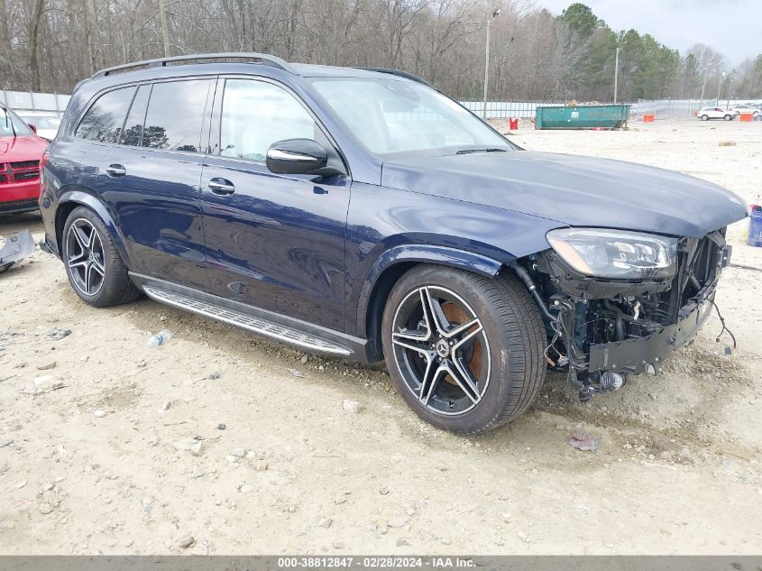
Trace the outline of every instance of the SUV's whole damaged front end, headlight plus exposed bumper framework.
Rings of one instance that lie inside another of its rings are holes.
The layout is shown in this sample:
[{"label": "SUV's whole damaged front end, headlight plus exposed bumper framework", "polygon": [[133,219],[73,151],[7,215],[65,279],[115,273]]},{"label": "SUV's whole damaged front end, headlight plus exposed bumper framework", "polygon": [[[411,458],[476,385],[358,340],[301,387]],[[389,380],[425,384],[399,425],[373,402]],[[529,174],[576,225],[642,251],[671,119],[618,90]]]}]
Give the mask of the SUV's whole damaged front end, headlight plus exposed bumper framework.
[{"label": "SUV's whole damaged front end, headlight plus exposed bumper framework", "polygon": [[580,400],[658,371],[711,314],[730,262],[725,228],[700,239],[567,228],[514,268],[545,314],[548,364]]}]

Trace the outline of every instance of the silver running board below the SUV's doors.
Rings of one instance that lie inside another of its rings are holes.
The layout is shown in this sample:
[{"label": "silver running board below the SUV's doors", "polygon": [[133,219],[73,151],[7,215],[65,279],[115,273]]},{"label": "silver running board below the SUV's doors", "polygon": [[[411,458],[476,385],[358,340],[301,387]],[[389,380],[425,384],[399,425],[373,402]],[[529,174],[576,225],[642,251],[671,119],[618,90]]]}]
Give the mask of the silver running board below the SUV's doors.
[{"label": "silver running board below the SUV's doors", "polygon": [[278,339],[291,345],[298,345],[309,351],[344,357],[352,355],[352,351],[347,347],[336,345],[314,335],[309,335],[294,327],[280,325],[264,318],[255,318],[242,311],[225,308],[209,301],[191,298],[177,291],[164,290],[153,285],[143,285],[142,290],[145,291],[148,297],[161,303],[166,303],[179,309],[186,309],[234,326],[243,327],[243,329],[253,333]]}]

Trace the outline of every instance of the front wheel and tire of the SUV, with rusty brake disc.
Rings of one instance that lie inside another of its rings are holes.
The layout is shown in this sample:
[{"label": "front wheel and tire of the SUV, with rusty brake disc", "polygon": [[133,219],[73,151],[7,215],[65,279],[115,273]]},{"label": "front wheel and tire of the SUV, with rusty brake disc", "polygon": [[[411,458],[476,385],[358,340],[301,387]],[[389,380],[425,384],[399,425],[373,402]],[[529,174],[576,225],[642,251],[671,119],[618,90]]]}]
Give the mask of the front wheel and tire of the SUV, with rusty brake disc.
[{"label": "front wheel and tire of the SUV, with rusty brake disc", "polygon": [[381,327],[397,391],[438,428],[463,435],[498,428],[527,410],[546,381],[545,327],[513,275],[417,266],[391,290]]}]

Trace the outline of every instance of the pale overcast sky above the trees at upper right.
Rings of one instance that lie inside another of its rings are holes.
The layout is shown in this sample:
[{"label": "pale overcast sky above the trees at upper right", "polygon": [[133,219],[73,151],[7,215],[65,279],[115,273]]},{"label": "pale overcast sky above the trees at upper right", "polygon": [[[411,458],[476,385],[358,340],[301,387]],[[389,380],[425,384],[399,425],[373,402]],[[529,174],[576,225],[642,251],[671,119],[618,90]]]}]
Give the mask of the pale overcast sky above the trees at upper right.
[{"label": "pale overcast sky above the trees at upper right", "polygon": [[[582,0],[613,30],[634,28],[681,55],[695,43],[724,54],[730,64],[762,53],[760,0]],[[535,0],[561,14],[574,0]]]}]

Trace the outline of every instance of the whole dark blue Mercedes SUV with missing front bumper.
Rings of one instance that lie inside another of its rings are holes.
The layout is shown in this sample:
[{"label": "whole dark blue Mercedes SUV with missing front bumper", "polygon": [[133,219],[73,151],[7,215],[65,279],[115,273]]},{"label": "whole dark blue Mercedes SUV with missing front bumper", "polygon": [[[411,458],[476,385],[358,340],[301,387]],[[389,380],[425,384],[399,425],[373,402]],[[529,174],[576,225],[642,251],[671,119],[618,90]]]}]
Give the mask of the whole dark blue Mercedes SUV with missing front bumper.
[{"label": "whole dark blue Mercedes SUV with missing front bumper", "polygon": [[87,303],[144,292],[385,358],[463,434],[516,418],[549,367],[583,400],[657,369],[709,314],[747,214],[703,180],[523,151],[403,72],[262,54],[101,71],[43,163],[45,247]]}]

